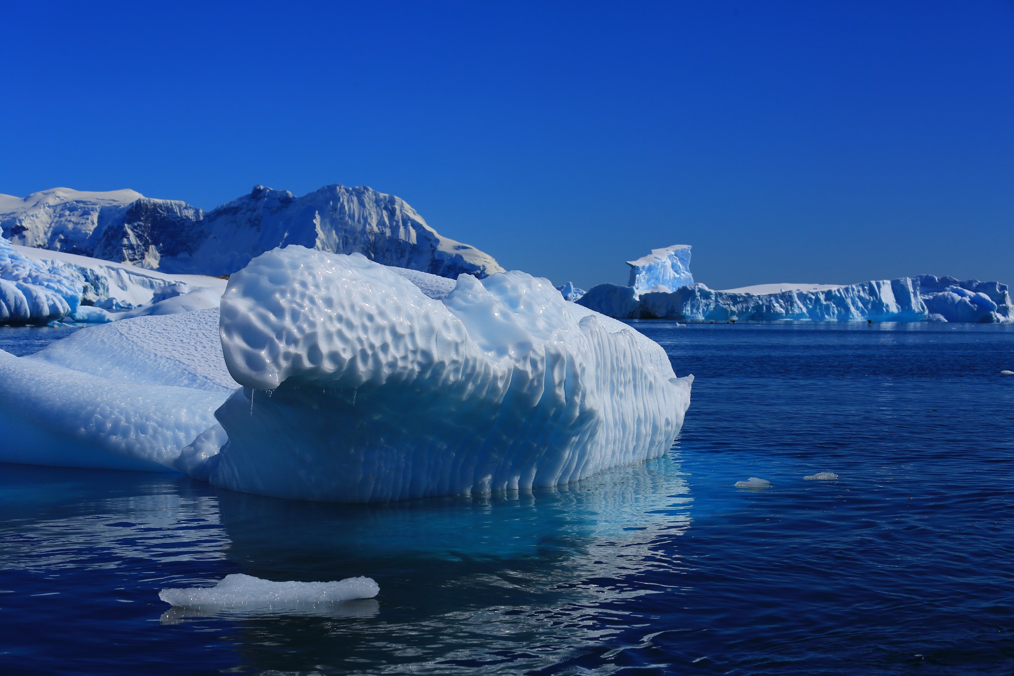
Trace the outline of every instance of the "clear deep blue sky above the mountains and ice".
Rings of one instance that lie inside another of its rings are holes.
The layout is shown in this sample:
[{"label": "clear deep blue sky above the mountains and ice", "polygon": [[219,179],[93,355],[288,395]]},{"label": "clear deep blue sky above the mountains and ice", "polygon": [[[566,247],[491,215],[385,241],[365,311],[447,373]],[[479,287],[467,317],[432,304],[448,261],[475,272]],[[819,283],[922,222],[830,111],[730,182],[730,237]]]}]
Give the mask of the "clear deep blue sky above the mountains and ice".
[{"label": "clear deep blue sky above the mountains and ice", "polygon": [[7,3],[0,193],[367,184],[581,286],[1014,284],[1014,4]]}]

